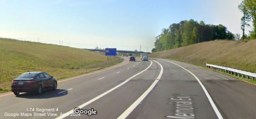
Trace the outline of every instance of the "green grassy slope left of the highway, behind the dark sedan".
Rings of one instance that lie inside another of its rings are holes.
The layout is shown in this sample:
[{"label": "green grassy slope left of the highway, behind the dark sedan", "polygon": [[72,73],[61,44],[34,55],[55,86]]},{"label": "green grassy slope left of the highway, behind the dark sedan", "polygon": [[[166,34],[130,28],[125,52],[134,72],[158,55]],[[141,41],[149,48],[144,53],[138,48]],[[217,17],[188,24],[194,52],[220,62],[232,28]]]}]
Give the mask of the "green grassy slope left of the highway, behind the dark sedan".
[{"label": "green grassy slope left of the highway, behind the dark sedan", "polygon": [[120,57],[52,44],[0,38],[0,93],[21,73],[41,71],[63,79],[122,62]]}]

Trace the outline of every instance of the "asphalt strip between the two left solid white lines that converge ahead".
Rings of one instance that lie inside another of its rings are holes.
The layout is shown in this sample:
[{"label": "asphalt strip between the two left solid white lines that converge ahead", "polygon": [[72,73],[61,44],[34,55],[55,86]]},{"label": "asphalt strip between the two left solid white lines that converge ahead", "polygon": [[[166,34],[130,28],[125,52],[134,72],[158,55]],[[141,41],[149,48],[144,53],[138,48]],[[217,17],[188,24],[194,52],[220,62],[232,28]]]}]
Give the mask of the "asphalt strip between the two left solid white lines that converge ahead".
[{"label": "asphalt strip between the two left solid white lines that converge ahead", "polygon": [[[142,65],[148,66],[151,61],[143,61]],[[94,108],[98,111],[97,115],[92,116],[80,116],[77,118],[90,118],[90,119],[115,119],[124,112],[134,101],[136,101],[147,88],[155,81],[156,77],[159,75],[159,68],[156,63],[152,63],[152,66],[141,73],[140,75],[134,77],[129,82],[120,86],[111,93],[105,95],[104,97],[92,102],[83,110],[88,110]],[[66,118],[73,118],[71,116]]]}]

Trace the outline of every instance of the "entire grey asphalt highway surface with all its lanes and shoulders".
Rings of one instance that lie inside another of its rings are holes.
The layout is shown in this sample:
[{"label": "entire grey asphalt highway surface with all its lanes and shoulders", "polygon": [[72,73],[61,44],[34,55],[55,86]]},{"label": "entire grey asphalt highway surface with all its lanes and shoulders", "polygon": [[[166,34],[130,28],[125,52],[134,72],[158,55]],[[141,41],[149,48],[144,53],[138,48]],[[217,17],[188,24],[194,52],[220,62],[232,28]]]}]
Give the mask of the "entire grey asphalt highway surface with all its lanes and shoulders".
[{"label": "entire grey asphalt highway surface with all its lanes and shoulders", "polygon": [[123,58],[58,80],[55,91],[0,94],[0,119],[256,119],[254,85],[183,62]]}]

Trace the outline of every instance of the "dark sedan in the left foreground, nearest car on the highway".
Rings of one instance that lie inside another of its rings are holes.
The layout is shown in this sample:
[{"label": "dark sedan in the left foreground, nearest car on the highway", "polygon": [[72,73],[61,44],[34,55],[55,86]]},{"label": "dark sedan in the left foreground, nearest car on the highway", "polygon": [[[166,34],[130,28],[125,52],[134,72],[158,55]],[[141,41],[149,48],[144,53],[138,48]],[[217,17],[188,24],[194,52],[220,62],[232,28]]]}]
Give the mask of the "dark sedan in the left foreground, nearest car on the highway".
[{"label": "dark sedan in the left foreground, nearest car on the highway", "polygon": [[46,89],[57,89],[57,79],[45,72],[27,72],[11,81],[11,91],[15,95],[20,92],[41,94]]}]

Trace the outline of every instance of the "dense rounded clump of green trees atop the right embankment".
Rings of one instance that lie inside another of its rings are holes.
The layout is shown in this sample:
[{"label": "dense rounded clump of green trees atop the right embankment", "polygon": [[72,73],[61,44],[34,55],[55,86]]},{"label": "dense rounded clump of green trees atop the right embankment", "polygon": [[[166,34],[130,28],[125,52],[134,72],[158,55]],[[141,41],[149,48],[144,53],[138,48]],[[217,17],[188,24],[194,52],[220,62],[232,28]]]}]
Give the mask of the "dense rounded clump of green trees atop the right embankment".
[{"label": "dense rounded clump of green trees atop the right embankment", "polygon": [[235,35],[227,30],[227,27],[219,24],[199,23],[193,19],[173,23],[169,28],[163,28],[161,34],[155,37],[155,48],[152,52],[174,49],[195,43],[211,41],[215,39],[234,40]]}]

